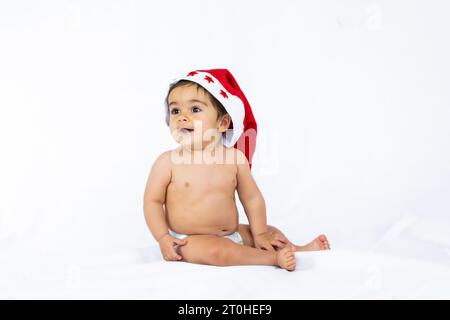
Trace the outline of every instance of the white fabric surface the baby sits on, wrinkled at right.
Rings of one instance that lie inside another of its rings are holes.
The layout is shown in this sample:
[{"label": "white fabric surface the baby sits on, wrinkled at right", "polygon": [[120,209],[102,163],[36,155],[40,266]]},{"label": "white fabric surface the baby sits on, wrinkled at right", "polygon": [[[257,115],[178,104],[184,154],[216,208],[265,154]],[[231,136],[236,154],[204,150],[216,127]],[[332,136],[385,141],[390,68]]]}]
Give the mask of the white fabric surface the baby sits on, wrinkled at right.
[{"label": "white fabric surface the baby sits on, wrinkled at right", "polygon": [[0,298],[449,299],[448,239],[425,232],[425,223],[401,231],[398,224],[365,250],[338,238],[331,251],[296,253],[294,272],[165,262],[156,244],[46,256],[3,251]]}]

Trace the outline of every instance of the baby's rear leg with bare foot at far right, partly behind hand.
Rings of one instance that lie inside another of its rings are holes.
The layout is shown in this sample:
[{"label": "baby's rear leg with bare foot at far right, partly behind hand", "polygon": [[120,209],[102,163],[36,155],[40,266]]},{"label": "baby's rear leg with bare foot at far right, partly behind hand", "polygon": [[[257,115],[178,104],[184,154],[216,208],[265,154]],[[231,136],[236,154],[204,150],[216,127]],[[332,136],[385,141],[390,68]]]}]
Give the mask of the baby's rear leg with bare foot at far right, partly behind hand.
[{"label": "baby's rear leg with bare foot at far right, partly behind hand", "polygon": [[[319,251],[319,250],[330,250],[330,244],[328,242],[328,239],[325,235],[321,234],[315,239],[313,239],[311,242],[304,246],[295,245],[292,242],[289,241],[289,239],[277,228],[274,226],[267,226],[269,232],[276,235],[276,238],[278,239],[284,239],[282,242],[277,241],[278,246],[276,246],[276,249],[284,248],[286,245],[291,245],[295,247],[295,251]],[[248,224],[240,224],[239,233],[241,234],[242,239],[244,240],[244,244],[247,246],[254,247],[255,243],[253,241],[253,236],[250,231],[250,226]]]}]

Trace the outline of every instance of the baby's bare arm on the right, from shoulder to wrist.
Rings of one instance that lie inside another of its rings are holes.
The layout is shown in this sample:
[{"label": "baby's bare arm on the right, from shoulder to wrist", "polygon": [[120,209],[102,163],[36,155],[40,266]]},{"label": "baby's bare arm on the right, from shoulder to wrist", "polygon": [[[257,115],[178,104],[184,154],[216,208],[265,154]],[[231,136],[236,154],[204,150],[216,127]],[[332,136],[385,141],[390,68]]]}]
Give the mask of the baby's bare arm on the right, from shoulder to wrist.
[{"label": "baby's bare arm on the right, from shoulder to wrist", "polygon": [[268,237],[266,204],[253,179],[245,155],[236,150],[237,156],[237,192],[250,224],[250,230],[257,248],[273,250]]}]

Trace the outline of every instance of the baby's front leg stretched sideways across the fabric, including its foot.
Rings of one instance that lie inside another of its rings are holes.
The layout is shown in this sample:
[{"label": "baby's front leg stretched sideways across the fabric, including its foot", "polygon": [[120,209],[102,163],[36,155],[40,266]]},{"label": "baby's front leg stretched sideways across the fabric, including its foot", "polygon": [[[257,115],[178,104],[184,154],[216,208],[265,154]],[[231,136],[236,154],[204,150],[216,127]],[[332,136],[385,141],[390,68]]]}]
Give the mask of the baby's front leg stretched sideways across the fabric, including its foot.
[{"label": "baby's front leg stretched sideways across the fabric, including its foot", "polygon": [[295,269],[295,254],[291,247],[269,252],[213,235],[193,235],[186,240],[187,244],[179,247],[186,262],[215,266],[277,265],[286,270]]}]

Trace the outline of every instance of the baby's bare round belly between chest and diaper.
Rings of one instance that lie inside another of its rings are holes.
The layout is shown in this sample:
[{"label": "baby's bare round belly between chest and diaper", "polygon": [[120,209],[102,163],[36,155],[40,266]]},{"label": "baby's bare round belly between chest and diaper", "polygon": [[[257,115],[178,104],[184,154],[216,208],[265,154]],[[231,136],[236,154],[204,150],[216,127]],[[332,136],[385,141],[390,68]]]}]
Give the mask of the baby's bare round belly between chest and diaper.
[{"label": "baby's bare round belly between chest and diaper", "polygon": [[201,203],[166,203],[169,228],[182,234],[227,235],[237,230],[239,215],[232,198],[204,198]]}]

